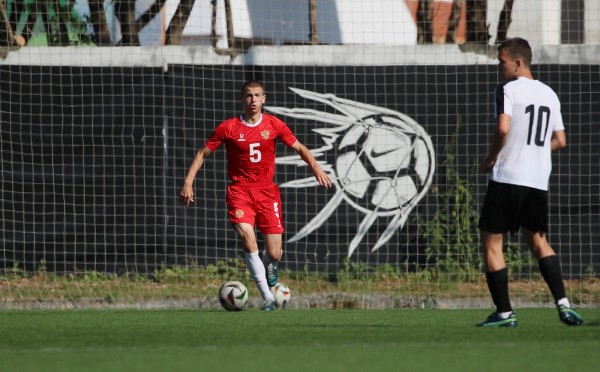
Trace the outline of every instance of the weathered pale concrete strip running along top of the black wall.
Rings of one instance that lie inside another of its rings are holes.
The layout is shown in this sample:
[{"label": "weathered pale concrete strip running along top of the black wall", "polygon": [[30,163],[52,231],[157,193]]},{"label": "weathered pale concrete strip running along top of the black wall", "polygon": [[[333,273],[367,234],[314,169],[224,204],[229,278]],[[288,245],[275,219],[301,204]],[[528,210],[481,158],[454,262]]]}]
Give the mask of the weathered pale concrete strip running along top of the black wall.
[{"label": "weathered pale concrete strip running along top of the black wall", "polygon": [[[533,45],[535,64],[597,65],[600,44]],[[146,66],[261,65],[261,66],[398,66],[497,65],[491,53],[465,52],[446,45],[319,45],[255,46],[231,58],[210,46],[161,47],[25,47],[9,51],[0,65],[32,66]]]}]

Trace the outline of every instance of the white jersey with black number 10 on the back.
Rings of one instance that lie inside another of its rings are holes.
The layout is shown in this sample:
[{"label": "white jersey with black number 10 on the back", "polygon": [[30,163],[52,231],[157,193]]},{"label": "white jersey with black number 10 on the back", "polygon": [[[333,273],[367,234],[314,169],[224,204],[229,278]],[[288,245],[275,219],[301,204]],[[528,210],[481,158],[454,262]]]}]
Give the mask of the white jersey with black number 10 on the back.
[{"label": "white jersey with black number 10 on the back", "polygon": [[510,132],[490,179],[548,190],[552,134],[565,129],[556,93],[524,77],[501,84],[496,90],[496,116],[500,114],[511,117]]}]

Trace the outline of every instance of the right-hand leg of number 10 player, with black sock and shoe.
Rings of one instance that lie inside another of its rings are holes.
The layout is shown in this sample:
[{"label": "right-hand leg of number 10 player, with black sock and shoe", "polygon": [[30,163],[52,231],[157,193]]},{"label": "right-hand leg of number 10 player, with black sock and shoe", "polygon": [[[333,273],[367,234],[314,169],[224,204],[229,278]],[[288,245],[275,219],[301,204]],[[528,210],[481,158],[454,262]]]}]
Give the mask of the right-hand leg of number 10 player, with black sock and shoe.
[{"label": "right-hand leg of number 10 player, with black sock and shoe", "polygon": [[568,325],[581,325],[583,318],[571,307],[567,298],[558,256],[548,244],[546,234],[523,228],[525,242],[538,259],[542,277],[554,297],[560,320]]}]

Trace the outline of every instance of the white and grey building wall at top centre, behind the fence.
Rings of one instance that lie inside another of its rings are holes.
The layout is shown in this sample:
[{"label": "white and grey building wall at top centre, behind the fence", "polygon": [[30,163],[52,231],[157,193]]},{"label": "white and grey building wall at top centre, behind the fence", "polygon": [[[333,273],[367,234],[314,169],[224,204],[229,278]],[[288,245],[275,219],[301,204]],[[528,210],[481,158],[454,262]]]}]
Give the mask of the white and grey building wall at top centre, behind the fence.
[{"label": "white and grey building wall at top centre, behind the fence", "polygon": [[[249,4],[251,6],[249,6]],[[307,0],[231,0],[234,35],[275,45],[309,41]],[[207,45],[212,7],[197,0],[183,30],[185,44]],[[319,0],[319,42],[326,44],[414,45],[417,29],[402,0]],[[218,47],[227,47],[224,0],[217,0]]]}]

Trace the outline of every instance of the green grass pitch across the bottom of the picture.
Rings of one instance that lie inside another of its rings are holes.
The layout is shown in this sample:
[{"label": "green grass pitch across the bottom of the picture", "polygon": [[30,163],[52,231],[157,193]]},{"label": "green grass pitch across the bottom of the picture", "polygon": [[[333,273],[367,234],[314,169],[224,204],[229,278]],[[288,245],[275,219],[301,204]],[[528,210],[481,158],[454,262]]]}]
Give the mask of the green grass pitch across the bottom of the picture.
[{"label": "green grass pitch across the bottom of the picture", "polygon": [[599,370],[600,309],[0,311],[2,371]]}]

